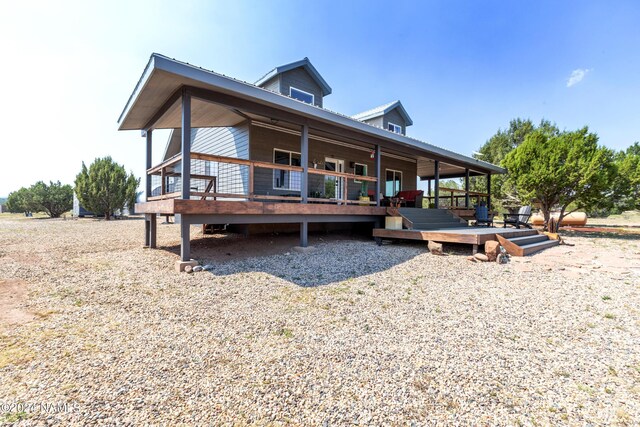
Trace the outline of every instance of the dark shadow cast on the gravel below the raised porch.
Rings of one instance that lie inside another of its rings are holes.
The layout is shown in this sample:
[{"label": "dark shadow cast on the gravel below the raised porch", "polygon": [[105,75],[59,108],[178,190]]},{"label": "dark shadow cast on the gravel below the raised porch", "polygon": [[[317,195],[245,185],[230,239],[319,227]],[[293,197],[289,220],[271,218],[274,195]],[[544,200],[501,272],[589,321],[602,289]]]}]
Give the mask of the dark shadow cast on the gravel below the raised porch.
[{"label": "dark shadow cast on the gravel below the raised porch", "polygon": [[[302,287],[323,286],[387,270],[427,251],[426,242],[378,246],[364,236],[310,235],[312,252],[296,252],[298,235],[212,235],[193,239],[191,253],[210,274],[266,273]],[[179,246],[164,247],[175,254]],[[445,246],[448,254],[471,253],[464,245]]]}]

